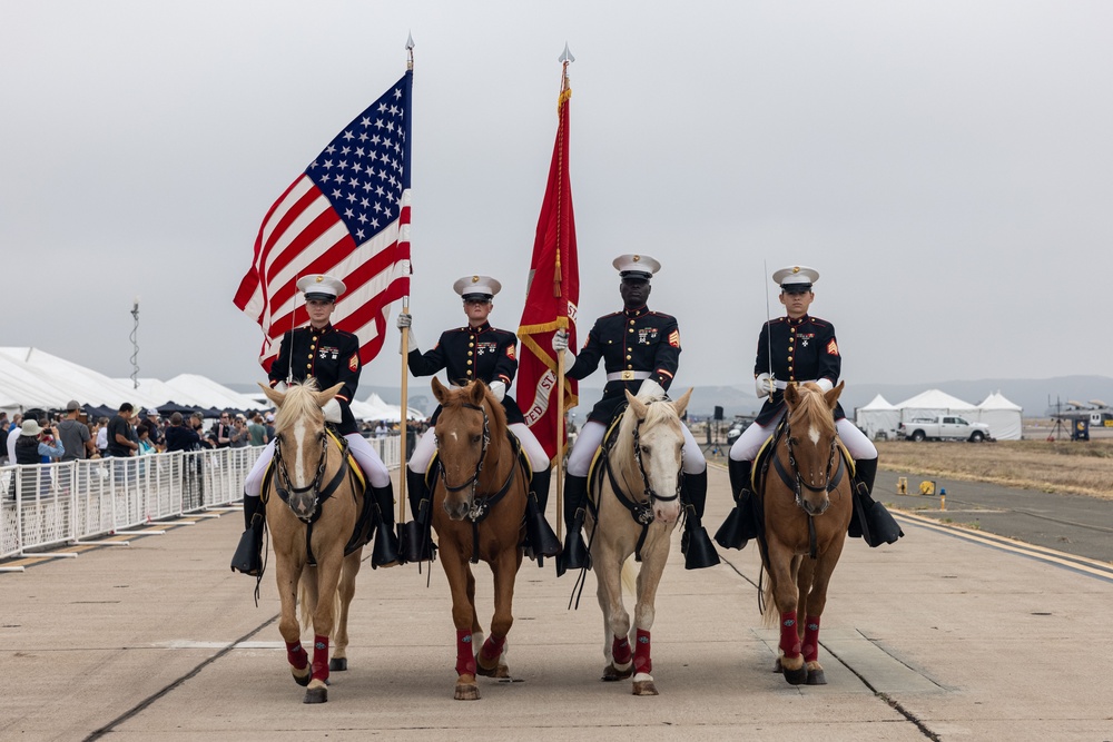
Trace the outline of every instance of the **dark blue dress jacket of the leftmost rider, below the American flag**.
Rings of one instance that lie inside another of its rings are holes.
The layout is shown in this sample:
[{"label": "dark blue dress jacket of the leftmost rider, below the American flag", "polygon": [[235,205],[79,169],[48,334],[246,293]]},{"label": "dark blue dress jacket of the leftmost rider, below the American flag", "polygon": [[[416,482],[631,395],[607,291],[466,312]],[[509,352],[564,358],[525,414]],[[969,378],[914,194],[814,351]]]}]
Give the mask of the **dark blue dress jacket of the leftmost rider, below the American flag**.
[{"label": "dark blue dress jacket of the leftmost rider, below the American flag", "polygon": [[322,390],[343,383],[344,386],[336,393],[336,400],[341,405],[341,424],[337,429],[341,435],[349,435],[359,432],[348,405],[359,386],[361,369],[359,338],[329,324],[319,330],[312,326],[299,327],[283,335],[278,358],[272,364],[268,376],[270,388],[278,382],[285,382],[289,370],[293,370],[292,377],[298,383],[313,376],[317,379],[317,388]]}]

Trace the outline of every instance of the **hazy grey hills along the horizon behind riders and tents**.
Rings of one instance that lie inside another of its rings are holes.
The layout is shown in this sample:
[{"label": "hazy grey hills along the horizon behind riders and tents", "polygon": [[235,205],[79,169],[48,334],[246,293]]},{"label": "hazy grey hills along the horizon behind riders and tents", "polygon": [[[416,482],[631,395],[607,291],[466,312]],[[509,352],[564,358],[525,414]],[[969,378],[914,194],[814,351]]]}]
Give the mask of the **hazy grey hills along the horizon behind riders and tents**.
[{"label": "hazy grey hills along the horizon behind riders and tents", "polygon": [[[245,394],[257,393],[254,384],[228,384],[236,392]],[[412,390],[413,387],[411,387]],[[1048,405],[1054,407],[1056,398],[1064,405],[1067,399],[1090,402],[1101,399],[1113,404],[1113,378],[1109,376],[1055,376],[1043,379],[986,378],[973,382],[952,380],[930,384],[859,384],[848,386],[843,392],[843,408],[848,415],[854,415],[857,407],[869,404],[880,394],[890,404],[899,404],[927,389],[940,389],[949,395],[971,404],[978,404],[994,392],[1001,392],[1005,397],[1024,408],[1025,417],[1046,417]],[[361,398],[372,392],[384,402],[396,405],[402,400],[398,387],[361,386]],[[603,394],[602,387],[580,387],[581,404],[574,412],[582,421],[591,405]],[[424,410],[426,414],[436,408],[432,394],[422,392],[410,396],[410,406]],[[692,392],[689,414],[696,417],[710,417],[716,406],[723,408],[723,416],[729,421],[735,415],[754,415],[761,407],[754,395],[751,384],[733,386],[697,386]]]}]

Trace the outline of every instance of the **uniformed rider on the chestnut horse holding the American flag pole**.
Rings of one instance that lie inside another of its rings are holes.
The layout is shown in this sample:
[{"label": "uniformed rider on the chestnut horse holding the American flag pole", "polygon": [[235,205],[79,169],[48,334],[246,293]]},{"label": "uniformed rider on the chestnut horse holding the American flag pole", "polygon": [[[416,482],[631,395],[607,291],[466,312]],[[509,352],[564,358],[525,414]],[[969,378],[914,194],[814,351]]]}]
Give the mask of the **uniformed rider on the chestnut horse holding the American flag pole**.
[{"label": "uniformed rider on the chestnut horse holding the American flag pole", "polygon": [[[549,501],[550,462],[549,455],[538,443],[536,437],[525,425],[525,417],[518,403],[506,390],[518,373],[518,336],[504,329],[496,329],[487,321],[494,309],[494,297],[502,289],[502,284],[490,276],[464,276],[452,286],[463,300],[464,315],[467,324],[441,333],[441,338],[431,350],[422,354],[414,340],[410,343],[410,355],[406,364],[414,376],[432,376],[445,370],[449,383],[463,386],[473,380],[481,380],[490,387],[491,393],[502,403],[506,412],[506,423],[522,444],[522,449],[530,458],[533,478],[530,491],[536,493],[538,508],[543,514]],[[411,333],[413,318],[411,315],[398,315],[397,326],[403,333]],[[413,336],[411,335],[411,338]],[[417,442],[406,467],[406,488],[410,496],[410,507],[417,521],[423,543],[430,543],[429,528],[430,493],[425,486],[425,469],[433,457],[436,447],[436,418],[441,413],[437,407],[430,419],[430,428]],[[385,427],[385,425],[384,425]],[[422,502],[426,506],[422,508]],[[534,546],[531,544],[531,546]],[[422,556],[429,556],[425,552]],[[555,552],[540,554],[555,556]]]}]

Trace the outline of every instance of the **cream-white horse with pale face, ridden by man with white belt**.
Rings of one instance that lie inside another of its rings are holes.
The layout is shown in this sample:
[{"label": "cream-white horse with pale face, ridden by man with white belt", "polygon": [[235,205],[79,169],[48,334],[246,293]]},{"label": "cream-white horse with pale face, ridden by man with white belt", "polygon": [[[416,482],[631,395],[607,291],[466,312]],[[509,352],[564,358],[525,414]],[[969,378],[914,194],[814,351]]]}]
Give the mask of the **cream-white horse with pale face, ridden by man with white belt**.
[{"label": "cream-white horse with pale face, ridden by man with white belt", "polygon": [[[644,385],[643,385],[644,387]],[[657,695],[650,656],[653,601],[680,516],[684,435],[680,417],[691,389],[670,402],[658,387],[633,396],[617,436],[608,436],[592,473],[584,525],[603,610],[604,681],[633,675],[634,695]],[[634,629],[622,604],[622,571],[630,555],[641,562]],[[634,642],[631,653],[630,642]]]}]

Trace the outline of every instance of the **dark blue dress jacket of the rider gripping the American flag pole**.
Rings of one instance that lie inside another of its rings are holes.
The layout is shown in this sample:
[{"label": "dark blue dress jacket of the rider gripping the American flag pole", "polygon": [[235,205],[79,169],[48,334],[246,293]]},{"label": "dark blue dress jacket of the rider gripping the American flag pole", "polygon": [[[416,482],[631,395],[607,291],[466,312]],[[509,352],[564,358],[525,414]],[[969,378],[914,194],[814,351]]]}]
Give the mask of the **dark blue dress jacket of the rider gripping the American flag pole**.
[{"label": "dark blue dress jacket of the rider gripping the American flag pole", "polygon": [[[518,403],[510,396],[511,383],[518,374],[518,336],[504,329],[491,327],[483,323],[479,327],[457,327],[441,333],[441,339],[432,350],[422,354],[414,349],[406,357],[406,365],[414,376],[432,376],[445,369],[449,383],[456,386],[479,379],[491,386],[492,382],[506,385],[506,396],[502,406],[506,410],[506,423],[524,423],[525,417]],[[436,425],[441,415],[437,407],[430,418],[431,425]]]}]

